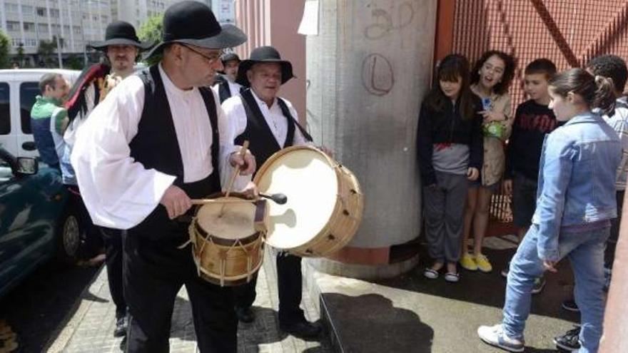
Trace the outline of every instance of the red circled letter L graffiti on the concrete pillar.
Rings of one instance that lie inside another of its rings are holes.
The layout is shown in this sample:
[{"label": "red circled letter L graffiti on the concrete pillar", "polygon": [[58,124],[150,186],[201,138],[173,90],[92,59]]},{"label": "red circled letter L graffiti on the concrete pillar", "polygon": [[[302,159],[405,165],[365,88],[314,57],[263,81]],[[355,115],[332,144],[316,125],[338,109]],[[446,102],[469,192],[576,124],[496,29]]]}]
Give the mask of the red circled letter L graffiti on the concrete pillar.
[{"label": "red circled letter L graffiti on the concrete pillar", "polygon": [[372,53],[362,62],[362,84],[368,93],[385,96],[395,86],[393,66],[385,56]]}]

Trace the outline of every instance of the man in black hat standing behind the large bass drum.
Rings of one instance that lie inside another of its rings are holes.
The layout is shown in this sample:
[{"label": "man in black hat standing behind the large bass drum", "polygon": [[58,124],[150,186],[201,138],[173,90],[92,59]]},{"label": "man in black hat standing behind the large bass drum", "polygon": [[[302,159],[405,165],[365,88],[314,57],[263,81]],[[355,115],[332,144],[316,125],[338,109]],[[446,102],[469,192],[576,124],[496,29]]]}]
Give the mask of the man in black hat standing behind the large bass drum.
[{"label": "man in black hat standing behind the large bass drum", "polygon": [[[250,142],[258,165],[270,155],[291,145],[305,145],[311,136],[298,123],[297,112],[285,98],[277,96],[283,83],[293,78],[292,64],[282,60],[272,46],[255,48],[248,60],[240,63],[237,83],[249,87],[239,97],[229,98],[223,109],[235,126],[231,138],[239,144]],[[236,287],[236,313],[242,322],[252,322],[250,307],[255,301],[255,282]],[[302,295],[301,257],[286,253],[277,256],[279,327],[298,337],[314,338],[320,325],[308,322],[300,309]]]}]

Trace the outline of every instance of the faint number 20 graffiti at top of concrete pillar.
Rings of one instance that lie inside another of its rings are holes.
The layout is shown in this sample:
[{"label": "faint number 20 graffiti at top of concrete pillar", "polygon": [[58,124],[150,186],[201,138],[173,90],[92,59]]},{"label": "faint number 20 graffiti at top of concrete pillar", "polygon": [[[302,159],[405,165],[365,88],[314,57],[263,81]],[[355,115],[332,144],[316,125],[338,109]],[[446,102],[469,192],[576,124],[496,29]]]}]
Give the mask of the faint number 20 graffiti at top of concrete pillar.
[{"label": "faint number 20 graffiti at top of concrete pillar", "polygon": [[399,31],[411,24],[415,16],[415,9],[408,1],[393,5],[391,12],[393,14],[385,9],[373,9],[373,23],[364,30],[365,38],[381,39],[391,31]]}]

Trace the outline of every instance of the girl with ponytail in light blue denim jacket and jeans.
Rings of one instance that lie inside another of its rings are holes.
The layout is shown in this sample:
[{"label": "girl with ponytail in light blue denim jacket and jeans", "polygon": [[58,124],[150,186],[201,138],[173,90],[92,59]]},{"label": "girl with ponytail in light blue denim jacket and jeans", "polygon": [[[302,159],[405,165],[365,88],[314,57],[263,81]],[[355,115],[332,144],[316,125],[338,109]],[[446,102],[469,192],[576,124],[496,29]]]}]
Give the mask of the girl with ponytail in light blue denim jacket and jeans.
[{"label": "girl with ponytail in light blue denim jacket and jeans", "polygon": [[604,247],[617,216],[615,173],[622,158],[617,133],[599,113],[612,111],[613,84],[582,68],[550,79],[550,108],[564,126],[547,135],[532,226],[510,263],[501,324],[482,326],[488,344],[523,352],[530,290],[543,272],[569,258],[581,313],[579,352],[597,352],[604,319]]}]

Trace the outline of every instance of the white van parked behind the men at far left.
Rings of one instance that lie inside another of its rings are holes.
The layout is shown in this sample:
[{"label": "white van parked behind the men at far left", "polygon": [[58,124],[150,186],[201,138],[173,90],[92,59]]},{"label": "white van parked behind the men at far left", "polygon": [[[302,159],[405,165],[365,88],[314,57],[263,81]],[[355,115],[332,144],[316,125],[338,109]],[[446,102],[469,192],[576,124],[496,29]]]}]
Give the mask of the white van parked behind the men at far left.
[{"label": "white van parked behind the men at far left", "polygon": [[0,145],[16,157],[36,157],[31,133],[31,108],[39,91],[39,79],[46,73],[61,73],[74,84],[81,71],[60,68],[0,70]]}]

